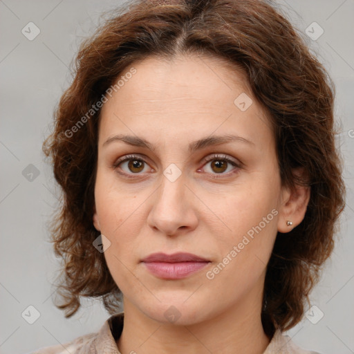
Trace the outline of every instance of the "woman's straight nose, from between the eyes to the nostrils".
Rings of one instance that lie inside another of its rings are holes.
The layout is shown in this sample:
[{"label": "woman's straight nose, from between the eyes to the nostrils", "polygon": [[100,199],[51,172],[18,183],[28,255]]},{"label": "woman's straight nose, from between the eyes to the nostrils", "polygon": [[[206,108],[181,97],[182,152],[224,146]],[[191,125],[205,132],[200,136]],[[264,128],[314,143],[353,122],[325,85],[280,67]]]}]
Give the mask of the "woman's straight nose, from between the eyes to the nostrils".
[{"label": "woman's straight nose, from between the eyes to the nostrils", "polygon": [[162,175],[162,183],[153,196],[147,222],[154,230],[174,236],[196,228],[195,196],[185,185],[183,174],[174,182]]}]

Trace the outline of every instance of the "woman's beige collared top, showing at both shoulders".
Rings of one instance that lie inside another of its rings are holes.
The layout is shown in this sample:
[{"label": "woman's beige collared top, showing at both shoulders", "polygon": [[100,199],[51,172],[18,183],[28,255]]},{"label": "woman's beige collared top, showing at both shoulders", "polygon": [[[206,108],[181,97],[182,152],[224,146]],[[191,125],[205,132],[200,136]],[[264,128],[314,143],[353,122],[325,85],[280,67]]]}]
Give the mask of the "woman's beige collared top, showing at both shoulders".
[{"label": "woman's beige collared top, showing at both shoulders", "polygon": [[[124,312],[109,317],[98,333],[90,333],[73,339],[71,342],[56,346],[39,348],[28,354],[120,354],[115,341],[120,337],[123,328]],[[279,330],[274,333],[270,344],[263,354],[319,354],[315,351],[304,351],[290,337],[282,335]]]}]

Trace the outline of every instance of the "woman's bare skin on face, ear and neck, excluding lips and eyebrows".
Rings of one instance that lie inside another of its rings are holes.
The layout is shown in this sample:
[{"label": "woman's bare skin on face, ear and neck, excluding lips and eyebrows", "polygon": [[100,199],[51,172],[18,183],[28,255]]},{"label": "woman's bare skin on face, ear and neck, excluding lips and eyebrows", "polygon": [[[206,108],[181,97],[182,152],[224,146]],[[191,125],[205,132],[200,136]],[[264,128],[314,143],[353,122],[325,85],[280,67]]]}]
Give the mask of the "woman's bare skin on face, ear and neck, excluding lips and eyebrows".
[{"label": "woman's bare skin on face, ear and neck, excluding lips and eyebrows", "polygon": [[[266,265],[277,231],[303,220],[310,192],[281,185],[269,119],[240,70],[197,55],[149,57],[133,66],[136,74],[102,107],[93,216],[110,242],[104,241],[104,257],[123,293],[118,348],[122,354],[263,353],[270,342],[261,324]],[[241,93],[252,98],[246,111],[234,104]],[[139,136],[153,148],[120,140],[104,145],[118,134]],[[212,134],[249,142],[188,150]],[[145,162],[115,163],[129,154]],[[174,182],[163,174],[171,164],[181,172]],[[208,279],[274,209],[261,232]],[[185,279],[165,280],[140,262],[154,252],[190,252],[210,263]],[[179,318],[171,321],[167,310]]]}]

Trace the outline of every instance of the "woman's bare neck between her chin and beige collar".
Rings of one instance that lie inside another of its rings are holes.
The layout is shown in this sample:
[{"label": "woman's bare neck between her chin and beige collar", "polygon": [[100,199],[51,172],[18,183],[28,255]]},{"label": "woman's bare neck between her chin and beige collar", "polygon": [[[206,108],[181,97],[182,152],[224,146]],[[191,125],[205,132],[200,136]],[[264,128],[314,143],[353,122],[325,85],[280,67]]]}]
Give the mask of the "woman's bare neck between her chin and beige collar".
[{"label": "woman's bare neck between her chin and beige collar", "polygon": [[261,306],[249,299],[245,302],[248,304],[243,302],[242,306],[185,326],[157,322],[124,299],[118,348],[122,354],[261,354],[270,342],[261,323]]}]

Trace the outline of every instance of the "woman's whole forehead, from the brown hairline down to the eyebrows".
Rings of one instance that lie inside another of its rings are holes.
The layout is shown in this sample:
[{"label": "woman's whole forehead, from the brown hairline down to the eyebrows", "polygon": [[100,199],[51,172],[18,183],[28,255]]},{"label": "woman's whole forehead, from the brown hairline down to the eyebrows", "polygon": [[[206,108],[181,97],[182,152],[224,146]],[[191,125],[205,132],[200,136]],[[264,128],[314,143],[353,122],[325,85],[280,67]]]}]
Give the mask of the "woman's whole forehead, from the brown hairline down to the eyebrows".
[{"label": "woman's whole forehead, from the brown hairline down to the eyebrows", "polygon": [[170,138],[198,132],[205,136],[216,129],[217,133],[234,129],[246,136],[253,131],[259,136],[270,130],[245,73],[221,59],[149,57],[133,63],[118,80],[132,67],[136,72],[102,107],[100,136],[107,137],[112,130],[140,136],[154,131]]}]

